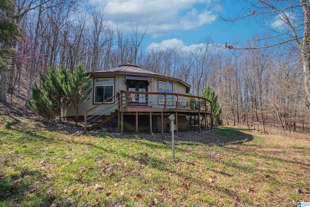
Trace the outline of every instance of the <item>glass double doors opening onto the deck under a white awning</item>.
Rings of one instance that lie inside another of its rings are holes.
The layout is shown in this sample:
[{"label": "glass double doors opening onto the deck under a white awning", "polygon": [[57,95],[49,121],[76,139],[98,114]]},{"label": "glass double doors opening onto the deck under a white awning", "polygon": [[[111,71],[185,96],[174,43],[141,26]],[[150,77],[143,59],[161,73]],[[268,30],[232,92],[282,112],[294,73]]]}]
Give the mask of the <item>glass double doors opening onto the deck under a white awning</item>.
[{"label": "glass double doors opening onto the deck under a white awning", "polygon": [[[147,81],[127,80],[127,91],[147,92]],[[147,95],[145,94],[130,94],[130,96],[134,103],[147,103]]]}]

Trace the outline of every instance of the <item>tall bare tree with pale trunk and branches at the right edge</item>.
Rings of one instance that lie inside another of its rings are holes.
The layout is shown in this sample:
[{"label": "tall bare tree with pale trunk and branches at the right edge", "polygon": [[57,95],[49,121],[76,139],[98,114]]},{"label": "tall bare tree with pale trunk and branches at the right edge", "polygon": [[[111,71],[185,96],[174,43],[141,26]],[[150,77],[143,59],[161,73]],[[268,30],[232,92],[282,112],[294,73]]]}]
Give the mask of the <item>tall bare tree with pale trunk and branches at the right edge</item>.
[{"label": "tall bare tree with pale trunk and branches at the right edge", "polygon": [[[258,48],[268,48],[295,42],[299,49],[300,61],[303,67],[306,94],[302,98],[310,112],[310,2],[307,0],[300,0],[299,2],[292,0],[244,0],[244,2],[248,7],[241,15],[223,19],[237,21],[248,17],[252,19],[256,16],[261,16],[261,19],[265,21],[266,18],[274,20],[276,16],[278,20],[283,22],[281,29],[285,29],[285,32],[272,31],[272,35],[258,39],[258,41],[272,39],[276,42],[273,41],[273,43],[267,46]],[[291,18],[291,16],[294,16],[294,18]],[[236,48],[232,45],[226,45],[226,47]],[[294,48],[291,47],[291,49]]]}]

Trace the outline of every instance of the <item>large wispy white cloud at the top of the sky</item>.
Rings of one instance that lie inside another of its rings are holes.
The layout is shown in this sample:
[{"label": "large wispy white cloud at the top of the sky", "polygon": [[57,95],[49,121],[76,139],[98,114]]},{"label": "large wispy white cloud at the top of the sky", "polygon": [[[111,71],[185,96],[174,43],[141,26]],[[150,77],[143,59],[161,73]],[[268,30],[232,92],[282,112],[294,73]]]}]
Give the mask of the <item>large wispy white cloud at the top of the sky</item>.
[{"label": "large wispy white cloud at the top of the sky", "polygon": [[92,4],[105,7],[111,26],[132,31],[139,23],[139,32],[158,37],[171,30],[192,30],[204,24],[211,24],[217,15],[211,9],[197,11],[194,7],[207,7],[217,0],[92,0]]}]

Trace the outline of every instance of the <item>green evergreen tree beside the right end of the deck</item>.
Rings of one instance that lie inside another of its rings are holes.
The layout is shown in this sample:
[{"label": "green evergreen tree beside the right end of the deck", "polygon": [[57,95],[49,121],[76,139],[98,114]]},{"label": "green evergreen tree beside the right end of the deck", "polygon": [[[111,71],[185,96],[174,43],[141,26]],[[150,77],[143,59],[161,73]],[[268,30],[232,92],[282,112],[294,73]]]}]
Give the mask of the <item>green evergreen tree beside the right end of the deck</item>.
[{"label": "green evergreen tree beside the right end of the deck", "polygon": [[207,86],[203,93],[202,93],[202,97],[212,101],[212,115],[213,115],[213,123],[214,124],[221,124],[221,120],[220,120],[220,115],[221,115],[221,108],[219,107],[219,104],[217,103],[217,95],[215,94],[214,91],[211,91],[211,87]]}]

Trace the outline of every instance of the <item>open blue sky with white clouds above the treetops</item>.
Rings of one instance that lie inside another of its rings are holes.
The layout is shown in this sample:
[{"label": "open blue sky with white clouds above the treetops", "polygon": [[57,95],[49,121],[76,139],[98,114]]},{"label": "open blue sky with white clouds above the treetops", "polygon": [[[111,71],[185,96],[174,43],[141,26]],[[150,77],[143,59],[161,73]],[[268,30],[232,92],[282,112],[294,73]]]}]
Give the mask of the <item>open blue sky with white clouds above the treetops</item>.
[{"label": "open blue sky with white clouds above the treetops", "polygon": [[[236,3],[234,3],[236,2]],[[236,0],[92,0],[104,8],[111,27],[131,32],[138,24],[138,31],[147,34],[144,49],[189,49],[210,37],[217,44],[248,40],[258,31],[257,24],[238,21],[229,23],[219,15],[235,16],[245,11],[242,1]],[[281,27],[277,16],[264,24]]]}]

